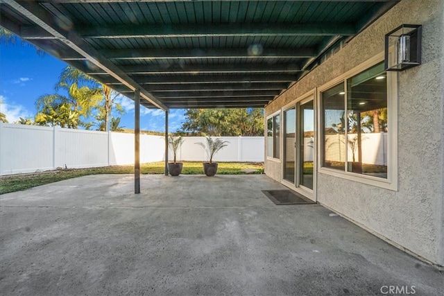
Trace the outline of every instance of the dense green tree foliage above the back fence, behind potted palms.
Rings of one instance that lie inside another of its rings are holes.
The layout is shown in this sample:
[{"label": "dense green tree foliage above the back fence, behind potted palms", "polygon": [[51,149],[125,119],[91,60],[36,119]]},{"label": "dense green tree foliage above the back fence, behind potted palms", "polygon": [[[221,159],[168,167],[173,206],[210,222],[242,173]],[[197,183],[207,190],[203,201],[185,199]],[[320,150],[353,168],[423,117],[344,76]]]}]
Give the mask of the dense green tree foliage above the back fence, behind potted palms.
[{"label": "dense green tree foliage above the back fence, behind potted palms", "polygon": [[264,110],[188,109],[179,134],[221,136],[263,136]]}]

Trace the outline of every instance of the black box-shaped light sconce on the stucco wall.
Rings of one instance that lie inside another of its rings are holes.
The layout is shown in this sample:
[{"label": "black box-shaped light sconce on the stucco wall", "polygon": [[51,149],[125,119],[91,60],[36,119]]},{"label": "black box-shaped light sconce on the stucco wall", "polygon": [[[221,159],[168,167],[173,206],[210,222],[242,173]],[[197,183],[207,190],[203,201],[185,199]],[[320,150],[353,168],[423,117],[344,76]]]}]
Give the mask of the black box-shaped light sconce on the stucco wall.
[{"label": "black box-shaped light sconce on the stucco wall", "polygon": [[386,71],[404,71],[421,64],[421,33],[421,25],[404,24],[386,34]]}]

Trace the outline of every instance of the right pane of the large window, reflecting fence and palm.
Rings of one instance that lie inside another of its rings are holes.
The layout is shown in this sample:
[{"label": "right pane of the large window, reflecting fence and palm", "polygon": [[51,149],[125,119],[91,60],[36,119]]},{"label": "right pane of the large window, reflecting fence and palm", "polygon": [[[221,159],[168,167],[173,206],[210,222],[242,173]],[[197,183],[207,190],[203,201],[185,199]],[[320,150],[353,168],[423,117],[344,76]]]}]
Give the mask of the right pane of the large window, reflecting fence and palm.
[{"label": "right pane of the large window, reflecting fence and palm", "polygon": [[387,177],[387,86],[383,64],[347,80],[347,171]]}]

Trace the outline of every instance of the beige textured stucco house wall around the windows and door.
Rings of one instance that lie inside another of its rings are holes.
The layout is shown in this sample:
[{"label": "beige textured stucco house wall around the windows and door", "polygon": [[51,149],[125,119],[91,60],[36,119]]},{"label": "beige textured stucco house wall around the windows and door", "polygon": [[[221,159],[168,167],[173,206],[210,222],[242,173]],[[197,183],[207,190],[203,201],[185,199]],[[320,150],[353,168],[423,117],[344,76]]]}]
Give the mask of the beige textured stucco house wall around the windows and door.
[{"label": "beige textured stucco house wall around the windows and door", "polygon": [[[422,65],[398,76],[398,191],[317,173],[317,200],[391,243],[444,265],[443,0],[404,0],[266,107],[266,115],[384,50],[384,35],[422,24]],[[280,164],[265,172],[280,180]]]}]

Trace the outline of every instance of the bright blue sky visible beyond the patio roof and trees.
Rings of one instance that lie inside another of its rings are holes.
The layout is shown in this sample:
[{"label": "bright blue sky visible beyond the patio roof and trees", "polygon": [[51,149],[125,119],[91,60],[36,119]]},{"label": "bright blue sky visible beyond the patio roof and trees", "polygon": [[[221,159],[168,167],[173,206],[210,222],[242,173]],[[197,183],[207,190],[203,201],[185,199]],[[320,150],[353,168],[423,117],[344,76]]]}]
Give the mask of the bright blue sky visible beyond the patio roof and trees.
[{"label": "bright blue sky visible beyond the patio roof and trees", "polygon": [[[9,123],[19,117],[33,119],[37,111],[35,101],[44,94],[56,93],[54,85],[65,67],[65,62],[49,54],[38,55],[32,46],[0,44],[0,111],[6,114]],[[118,101],[126,114],[113,115],[121,117],[121,126],[133,129],[134,102],[124,96],[119,96]],[[169,132],[175,132],[182,126],[184,112],[170,110]],[[162,110],[141,107],[140,115],[142,130],[164,131]]]}]

